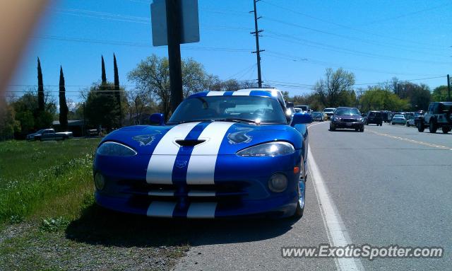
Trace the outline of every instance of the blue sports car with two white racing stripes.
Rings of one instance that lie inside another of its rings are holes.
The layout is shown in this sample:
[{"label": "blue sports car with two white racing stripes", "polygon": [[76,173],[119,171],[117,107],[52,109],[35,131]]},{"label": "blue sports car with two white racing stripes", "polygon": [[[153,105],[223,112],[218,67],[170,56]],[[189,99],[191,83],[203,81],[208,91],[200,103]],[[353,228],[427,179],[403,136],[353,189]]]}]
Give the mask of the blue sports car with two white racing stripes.
[{"label": "blue sports car with two white racing stripes", "polygon": [[309,114],[270,90],[186,98],[167,123],[118,129],[97,148],[95,200],[149,217],[302,217]]}]

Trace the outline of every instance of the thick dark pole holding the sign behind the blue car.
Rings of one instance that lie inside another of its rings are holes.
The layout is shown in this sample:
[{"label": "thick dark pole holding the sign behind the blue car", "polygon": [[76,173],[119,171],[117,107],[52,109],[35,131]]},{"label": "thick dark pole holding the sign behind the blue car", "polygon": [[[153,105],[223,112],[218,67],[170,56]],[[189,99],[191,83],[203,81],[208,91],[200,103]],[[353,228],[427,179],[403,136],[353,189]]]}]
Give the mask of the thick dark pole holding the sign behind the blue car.
[{"label": "thick dark pole holding the sign behind the blue car", "polygon": [[[167,13],[167,41],[169,62],[169,86],[171,89],[171,110],[182,103],[182,65],[180,29],[182,27],[181,0],[165,0]],[[168,116],[165,116],[168,117]]]}]

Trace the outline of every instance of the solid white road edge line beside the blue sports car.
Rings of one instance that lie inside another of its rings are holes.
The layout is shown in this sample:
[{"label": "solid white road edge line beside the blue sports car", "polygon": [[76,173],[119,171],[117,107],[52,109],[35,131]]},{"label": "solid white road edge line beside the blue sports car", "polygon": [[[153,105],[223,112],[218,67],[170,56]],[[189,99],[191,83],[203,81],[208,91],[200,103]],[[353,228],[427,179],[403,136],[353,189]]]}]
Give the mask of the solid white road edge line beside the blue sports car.
[{"label": "solid white road edge line beside the blue sports car", "polygon": [[[316,161],[314,161],[310,147],[308,148],[308,163],[309,173],[311,173],[311,180],[314,183],[319,207],[323,213],[322,218],[328,232],[328,239],[332,246],[347,246],[351,243],[350,237],[333,200],[329,196],[328,188],[326,188],[323,182],[319,167]],[[361,260],[357,258],[338,258],[335,259],[335,263],[338,270],[364,270]]]}]

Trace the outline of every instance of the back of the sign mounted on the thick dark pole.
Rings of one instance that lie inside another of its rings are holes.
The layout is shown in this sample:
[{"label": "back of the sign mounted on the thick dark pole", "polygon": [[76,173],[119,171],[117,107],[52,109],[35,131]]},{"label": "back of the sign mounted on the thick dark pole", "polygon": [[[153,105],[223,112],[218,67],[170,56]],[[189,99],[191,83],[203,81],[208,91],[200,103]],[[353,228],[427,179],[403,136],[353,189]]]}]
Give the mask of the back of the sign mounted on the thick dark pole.
[{"label": "back of the sign mounted on the thick dark pole", "polygon": [[[181,1],[182,16],[180,43],[199,42],[198,0],[179,1]],[[153,30],[153,45],[168,45],[165,0],[154,0],[153,4],[150,4],[150,21]]]}]

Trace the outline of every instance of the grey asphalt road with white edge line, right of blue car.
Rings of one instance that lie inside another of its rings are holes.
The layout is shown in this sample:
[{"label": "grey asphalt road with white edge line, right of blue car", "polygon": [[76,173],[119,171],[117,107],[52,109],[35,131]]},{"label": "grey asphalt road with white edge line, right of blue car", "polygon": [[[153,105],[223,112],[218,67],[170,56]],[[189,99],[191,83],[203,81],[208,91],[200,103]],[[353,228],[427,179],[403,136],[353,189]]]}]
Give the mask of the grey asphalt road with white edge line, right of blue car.
[{"label": "grey asphalt road with white edge line, right of blue car", "polygon": [[[330,132],[328,122],[312,124],[304,217],[208,222],[176,270],[450,270],[452,134],[426,131],[383,124]],[[440,246],[445,253],[351,263],[281,257],[282,246],[321,243]]]}]

